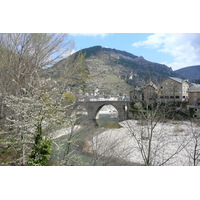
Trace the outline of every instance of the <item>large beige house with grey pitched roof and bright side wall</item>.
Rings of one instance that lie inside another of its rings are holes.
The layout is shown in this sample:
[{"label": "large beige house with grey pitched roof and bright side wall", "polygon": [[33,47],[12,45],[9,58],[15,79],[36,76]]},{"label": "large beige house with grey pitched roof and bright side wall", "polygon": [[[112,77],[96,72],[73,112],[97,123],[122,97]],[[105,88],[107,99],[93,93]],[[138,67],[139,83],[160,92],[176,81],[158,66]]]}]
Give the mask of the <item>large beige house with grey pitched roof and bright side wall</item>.
[{"label": "large beige house with grey pitched roof and bright side wall", "polygon": [[158,100],[161,102],[188,101],[188,80],[168,77],[158,85]]}]

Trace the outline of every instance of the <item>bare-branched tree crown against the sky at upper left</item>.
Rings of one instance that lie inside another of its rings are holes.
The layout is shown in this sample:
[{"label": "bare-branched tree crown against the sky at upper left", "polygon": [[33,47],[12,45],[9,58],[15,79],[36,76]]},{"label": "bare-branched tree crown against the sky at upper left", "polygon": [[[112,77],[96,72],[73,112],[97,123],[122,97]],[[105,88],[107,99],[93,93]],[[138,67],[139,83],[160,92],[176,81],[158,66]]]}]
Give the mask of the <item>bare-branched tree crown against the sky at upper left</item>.
[{"label": "bare-branched tree crown against the sky at upper left", "polygon": [[42,68],[60,60],[68,43],[66,34],[0,34],[0,91],[19,95],[33,90]]}]

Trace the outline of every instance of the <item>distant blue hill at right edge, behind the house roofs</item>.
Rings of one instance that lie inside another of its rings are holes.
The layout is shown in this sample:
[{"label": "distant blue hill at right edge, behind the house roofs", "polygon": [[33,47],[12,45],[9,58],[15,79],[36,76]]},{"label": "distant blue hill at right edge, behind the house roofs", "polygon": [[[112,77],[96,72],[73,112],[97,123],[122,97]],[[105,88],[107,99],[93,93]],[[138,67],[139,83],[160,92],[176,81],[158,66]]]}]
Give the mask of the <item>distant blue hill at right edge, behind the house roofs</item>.
[{"label": "distant blue hill at right edge, behind the house roofs", "polygon": [[188,79],[190,82],[200,80],[200,65],[185,67],[174,72],[180,78]]}]

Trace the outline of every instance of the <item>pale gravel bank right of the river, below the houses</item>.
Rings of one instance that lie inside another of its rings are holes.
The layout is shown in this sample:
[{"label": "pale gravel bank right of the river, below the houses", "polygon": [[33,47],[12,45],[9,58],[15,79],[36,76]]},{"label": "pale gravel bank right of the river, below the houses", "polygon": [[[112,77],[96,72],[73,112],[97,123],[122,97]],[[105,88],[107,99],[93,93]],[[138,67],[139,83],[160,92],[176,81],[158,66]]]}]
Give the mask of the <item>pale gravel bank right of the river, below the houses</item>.
[{"label": "pale gravel bank right of the river, below the houses", "polygon": [[[106,130],[93,138],[92,149],[99,155],[123,158],[128,162],[144,164],[144,155],[148,151],[148,125],[137,120],[119,123],[122,128]],[[189,121],[171,121],[158,123],[151,141],[151,161],[153,165],[183,166],[193,165],[194,134],[200,127]],[[136,138],[138,142],[136,141]],[[140,144],[140,146],[138,145]],[[147,153],[146,153],[147,155]]]}]

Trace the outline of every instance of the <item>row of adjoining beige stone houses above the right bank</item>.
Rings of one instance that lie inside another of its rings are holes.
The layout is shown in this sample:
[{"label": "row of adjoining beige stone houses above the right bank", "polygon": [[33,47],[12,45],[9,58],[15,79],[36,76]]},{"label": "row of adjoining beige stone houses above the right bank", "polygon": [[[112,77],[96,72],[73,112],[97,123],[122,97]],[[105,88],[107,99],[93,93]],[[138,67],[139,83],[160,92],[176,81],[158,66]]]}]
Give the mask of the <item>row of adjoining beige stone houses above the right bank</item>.
[{"label": "row of adjoining beige stone houses above the right bank", "polygon": [[189,83],[176,77],[168,77],[158,86],[152,81],[137,86],[130,92],[130,100],[138,102],[180,102],[182,111],[189,111],[191,117],[200,118],[200,84]]}]

